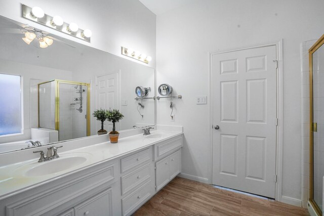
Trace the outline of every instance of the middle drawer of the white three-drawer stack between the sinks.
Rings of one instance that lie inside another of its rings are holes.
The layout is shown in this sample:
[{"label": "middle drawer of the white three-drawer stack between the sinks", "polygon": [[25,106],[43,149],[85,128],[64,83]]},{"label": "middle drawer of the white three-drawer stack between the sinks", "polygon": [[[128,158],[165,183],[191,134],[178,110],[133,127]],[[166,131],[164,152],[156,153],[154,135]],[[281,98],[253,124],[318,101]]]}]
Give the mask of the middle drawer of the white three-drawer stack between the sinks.
[{"label": "middle drawer of the white three-drawer stack between the sinks", "polygon": [[140,169],[137,169],[130,174],[120,177],[121,180],[121,195],[134,189],[136,186],[150,178],[150,164],[146,164]]}]

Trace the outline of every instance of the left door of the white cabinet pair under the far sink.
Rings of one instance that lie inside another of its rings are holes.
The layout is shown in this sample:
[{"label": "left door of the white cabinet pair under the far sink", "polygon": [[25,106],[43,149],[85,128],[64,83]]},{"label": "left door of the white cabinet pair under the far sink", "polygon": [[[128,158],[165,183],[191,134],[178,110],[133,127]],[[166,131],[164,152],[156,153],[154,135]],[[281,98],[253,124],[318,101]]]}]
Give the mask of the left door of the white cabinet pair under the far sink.
[{"label": "left door of the white cabinet pair under the far sink", "polygon": [[163,188],[170,181],[169,156],[155,163],[156,191]]}]

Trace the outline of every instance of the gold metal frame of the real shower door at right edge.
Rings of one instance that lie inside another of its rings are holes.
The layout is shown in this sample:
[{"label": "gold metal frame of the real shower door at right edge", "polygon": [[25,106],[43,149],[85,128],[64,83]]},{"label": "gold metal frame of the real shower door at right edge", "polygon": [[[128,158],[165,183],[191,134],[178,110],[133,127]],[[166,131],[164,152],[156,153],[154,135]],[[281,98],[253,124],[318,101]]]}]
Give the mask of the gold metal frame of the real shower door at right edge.
[{"label": "gold metal frame of the real shower door at right edge", "polygon": [[313,175],[314,175],[314,166],[313,166],[313,53],[315,53],[318,48],[324,44],[324,34],[315,42],[315,44],[308,50],[309,53],[309,202],[315,209],[318,215],[322,215],[322,211],[314,201],[314,185],[313,185]]}]

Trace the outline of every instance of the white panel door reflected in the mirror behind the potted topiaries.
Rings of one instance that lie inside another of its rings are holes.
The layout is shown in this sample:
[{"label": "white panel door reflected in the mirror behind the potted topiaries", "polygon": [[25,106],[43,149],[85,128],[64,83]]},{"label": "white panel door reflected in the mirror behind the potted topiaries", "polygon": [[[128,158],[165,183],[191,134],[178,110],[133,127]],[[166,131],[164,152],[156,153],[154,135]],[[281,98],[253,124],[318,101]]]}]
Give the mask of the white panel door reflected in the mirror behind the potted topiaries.
[{"label": "white panel door reflected in the mirror behind the potted topiaries", "polygon": [[[96,77],[96,109],[119,109],[119,74],[110,73]],[[107,127],[105,125],[108,125]],[[104,129],[112,131],[112,123],[105,121]],[[97,131],[101,128],[101,122],[96,123]],[[116,131],[119,124],[116,122]]]}]

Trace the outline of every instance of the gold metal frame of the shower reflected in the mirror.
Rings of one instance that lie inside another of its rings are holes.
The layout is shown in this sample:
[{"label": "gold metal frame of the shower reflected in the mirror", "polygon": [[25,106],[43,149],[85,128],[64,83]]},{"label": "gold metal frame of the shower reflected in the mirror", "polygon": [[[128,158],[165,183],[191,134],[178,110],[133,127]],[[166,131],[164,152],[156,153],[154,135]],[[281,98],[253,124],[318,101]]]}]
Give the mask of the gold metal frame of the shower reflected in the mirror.
[{"label": "gold metal frame of the shower reflected in the mirror", "polygon": [[67,81],[62,79],[52,79],[50,81],[45,81],[38,83],[38,127],[39,127],[39,85],[53,82],[55,86],[55,130],[60,129],[60,83],[72,84],[72,85],[86,85],[87,86],[87,137],[91,135],[90,130],[90,84],[85,82]]}]

